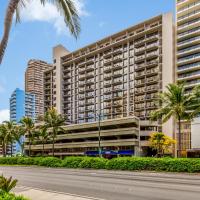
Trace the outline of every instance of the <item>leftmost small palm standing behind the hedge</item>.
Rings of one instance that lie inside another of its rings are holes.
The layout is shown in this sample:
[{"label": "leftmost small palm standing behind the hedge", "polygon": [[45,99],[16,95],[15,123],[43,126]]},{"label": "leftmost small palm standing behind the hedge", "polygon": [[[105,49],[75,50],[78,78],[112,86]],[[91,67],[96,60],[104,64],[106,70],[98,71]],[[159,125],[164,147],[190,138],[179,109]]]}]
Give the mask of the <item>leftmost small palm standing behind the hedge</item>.
[{"label": "leftmost small palm standing behind the hedge", "polygon": [[15,142],[16,123],[13,121],[5,121],[4,128],[6,132],[7,142],[10,143],[10,155],[13,156],[13,144]]}]

